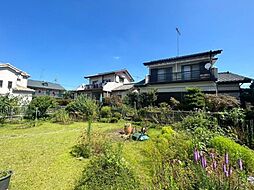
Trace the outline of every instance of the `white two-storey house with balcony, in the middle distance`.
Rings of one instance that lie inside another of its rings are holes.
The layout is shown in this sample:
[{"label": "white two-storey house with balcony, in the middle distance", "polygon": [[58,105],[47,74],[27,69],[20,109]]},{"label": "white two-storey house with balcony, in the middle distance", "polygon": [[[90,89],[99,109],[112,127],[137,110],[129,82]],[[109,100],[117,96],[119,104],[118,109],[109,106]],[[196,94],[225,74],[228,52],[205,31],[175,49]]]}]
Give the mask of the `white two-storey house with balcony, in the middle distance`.
[{"label": "white two-storey house with balcony, in the middle distance", "polygon": [[85,76],[85,78],[89,79],[89,84],[81,85],[77,89],[77,93],[86,94],[96,100],[109,97],[114,89],[134,82],[132,76],[126,69],[98,73]]}]

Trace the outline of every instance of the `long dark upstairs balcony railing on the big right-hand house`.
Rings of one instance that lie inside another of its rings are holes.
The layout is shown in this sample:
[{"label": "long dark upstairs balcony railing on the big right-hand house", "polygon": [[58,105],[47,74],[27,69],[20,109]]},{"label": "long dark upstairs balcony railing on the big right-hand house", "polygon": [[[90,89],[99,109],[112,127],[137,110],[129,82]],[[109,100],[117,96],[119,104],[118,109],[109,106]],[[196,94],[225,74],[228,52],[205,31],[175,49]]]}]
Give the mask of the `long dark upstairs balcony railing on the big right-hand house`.
[{"label": "long dark upstairs balcony railing on the big right-hand house", "polygon": [[215,76],[210,71],[183,71],[175,73],[163,73],[149,76],[149,83],[160,82],[185,82],[185,81],[207,81],[215,80]]}]

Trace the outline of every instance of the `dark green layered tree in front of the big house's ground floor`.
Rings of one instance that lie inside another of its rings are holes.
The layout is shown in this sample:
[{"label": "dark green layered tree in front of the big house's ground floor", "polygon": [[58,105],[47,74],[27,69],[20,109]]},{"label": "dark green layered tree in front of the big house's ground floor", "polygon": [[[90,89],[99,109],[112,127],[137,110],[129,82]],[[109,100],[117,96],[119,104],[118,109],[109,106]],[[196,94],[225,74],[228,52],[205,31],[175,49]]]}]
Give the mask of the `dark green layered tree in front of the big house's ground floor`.
[{"label": "dark green layered tree in front of the big house's ground floor", "polygon": [[184,96],[184,107],[186,110],[204,109],[204,93],[199,88],[187,88],[187,94]]}]

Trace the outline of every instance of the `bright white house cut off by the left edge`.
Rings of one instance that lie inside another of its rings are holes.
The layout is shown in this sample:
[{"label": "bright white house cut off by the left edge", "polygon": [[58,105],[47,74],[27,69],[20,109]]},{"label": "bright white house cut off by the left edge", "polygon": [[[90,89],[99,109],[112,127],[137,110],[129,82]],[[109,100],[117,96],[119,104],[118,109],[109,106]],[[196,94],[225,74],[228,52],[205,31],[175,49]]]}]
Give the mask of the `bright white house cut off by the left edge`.
[{"label": "bright white house cut off by the left edge", "polygon": [[0,95],[10,94],[21,99],[22,104],[32,100],[33,89],[27,87],[26,72],[12,66],[9,63],[0,64]]}]

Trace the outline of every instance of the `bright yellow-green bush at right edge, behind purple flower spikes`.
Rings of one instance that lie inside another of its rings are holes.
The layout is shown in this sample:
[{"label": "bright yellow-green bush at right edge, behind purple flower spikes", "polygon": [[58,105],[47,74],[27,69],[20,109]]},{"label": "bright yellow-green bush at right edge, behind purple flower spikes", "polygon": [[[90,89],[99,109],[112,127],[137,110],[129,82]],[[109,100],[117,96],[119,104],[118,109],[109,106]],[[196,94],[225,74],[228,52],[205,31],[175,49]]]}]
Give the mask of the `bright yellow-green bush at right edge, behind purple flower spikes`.
[{"label": "bright yellow-green bush at right edge, behind purple flower spikes", "polygon": [[243,147],[233,140],[223,137],[216,136],[211,140],[211,144],[221,154],[228,152],[233,162],[237,162],[241,158],[246,166],[246,169],[250,172],[254,172],[254,152],[253,150]]}]

